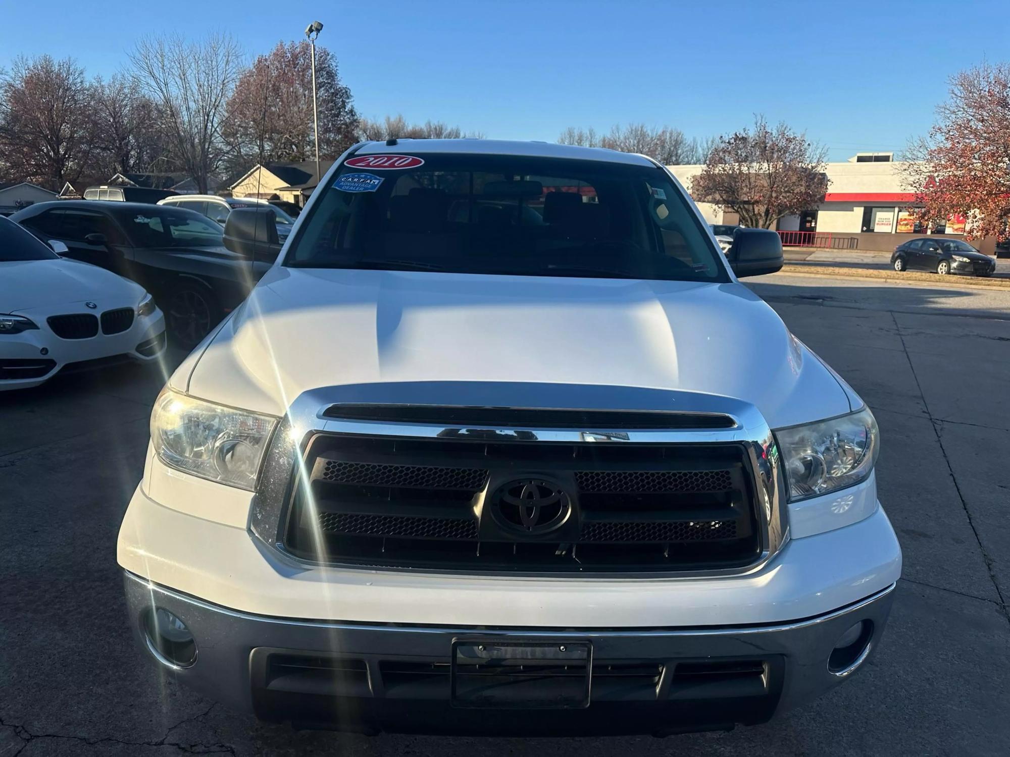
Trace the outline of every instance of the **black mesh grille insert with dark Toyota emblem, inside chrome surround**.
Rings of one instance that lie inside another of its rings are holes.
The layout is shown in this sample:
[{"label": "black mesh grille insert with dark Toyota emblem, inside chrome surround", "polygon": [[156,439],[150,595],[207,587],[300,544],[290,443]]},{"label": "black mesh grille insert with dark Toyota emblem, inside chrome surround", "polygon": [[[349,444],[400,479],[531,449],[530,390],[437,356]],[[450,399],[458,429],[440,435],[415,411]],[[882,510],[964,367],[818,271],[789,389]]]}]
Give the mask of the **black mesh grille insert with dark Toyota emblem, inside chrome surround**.
[{"label": "black mesh grille insert with dark Toyota emblem, inside chrome surround", "polygon": [[[735,443],[327,433],[296,467],[307,480],[292,488],[282,540],[314,561],[627,573],[736,567],[761,553],[752,473]],[[515,483],[526,479],[535,485]],[[536,515],[557,526],[537,530],[510,510],[557,491],[567,503],[537,500]]]}]

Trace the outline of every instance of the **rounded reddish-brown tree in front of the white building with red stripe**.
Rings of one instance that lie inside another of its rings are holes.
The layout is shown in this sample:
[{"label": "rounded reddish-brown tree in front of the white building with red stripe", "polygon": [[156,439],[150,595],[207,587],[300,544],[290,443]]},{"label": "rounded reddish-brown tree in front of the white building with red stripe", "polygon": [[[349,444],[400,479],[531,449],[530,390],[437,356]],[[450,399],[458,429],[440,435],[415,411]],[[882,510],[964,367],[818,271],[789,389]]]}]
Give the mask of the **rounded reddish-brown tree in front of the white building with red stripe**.
[{"label": "rounded reddish-brown tree in front of the white building with red stripe", "polygon": [[824,147],[785,123],[771,127],[754,117],[752,129],[720,136],[691,194],[732,210],[744,226],[771,228],[785,215],[809,210],[824,199]]}]

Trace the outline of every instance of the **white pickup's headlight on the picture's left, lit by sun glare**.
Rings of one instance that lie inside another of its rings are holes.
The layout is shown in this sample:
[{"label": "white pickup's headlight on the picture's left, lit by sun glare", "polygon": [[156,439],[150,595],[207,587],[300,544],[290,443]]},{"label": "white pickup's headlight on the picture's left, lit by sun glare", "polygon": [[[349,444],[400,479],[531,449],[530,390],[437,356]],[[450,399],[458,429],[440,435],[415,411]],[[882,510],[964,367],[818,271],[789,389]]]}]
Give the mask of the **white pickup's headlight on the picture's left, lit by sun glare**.
[{"label": "white pickup's headlight on the picture's left, lit by sun glare", "polygon": [[166,388],[150,415],[163,462],[201,478],[252,491],[277,419],[212,405]]}]

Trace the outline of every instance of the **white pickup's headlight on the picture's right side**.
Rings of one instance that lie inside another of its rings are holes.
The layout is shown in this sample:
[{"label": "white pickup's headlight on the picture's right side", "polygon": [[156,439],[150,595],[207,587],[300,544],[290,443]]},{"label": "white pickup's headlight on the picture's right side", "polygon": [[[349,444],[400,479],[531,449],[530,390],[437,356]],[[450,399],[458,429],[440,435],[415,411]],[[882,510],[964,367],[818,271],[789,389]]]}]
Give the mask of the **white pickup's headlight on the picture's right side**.
[{"label": "white pickup's headlight on the picture's right side", "polygon": [[880,451],[880,432],[868,408],[828,421],[776,431],[791,502],[865,480]]}]

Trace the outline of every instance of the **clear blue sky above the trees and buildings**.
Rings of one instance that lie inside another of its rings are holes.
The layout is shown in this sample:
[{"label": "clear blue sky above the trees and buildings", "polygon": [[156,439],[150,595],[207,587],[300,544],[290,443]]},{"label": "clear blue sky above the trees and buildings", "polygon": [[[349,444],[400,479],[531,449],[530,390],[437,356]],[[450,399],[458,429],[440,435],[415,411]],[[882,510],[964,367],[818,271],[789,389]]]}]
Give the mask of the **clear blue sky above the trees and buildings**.
[{"label": "clear blue sky above the trees and buildings", "polygon": [[0,0],[0,68],[48,52],[108,75],[158,30],[224,28],[251,58],[316,18],[365,116],[552,141],[632,121],[703,137],[761,112],[834,160],[900,150],[949,75],[1008,57],[998,2]]}]

